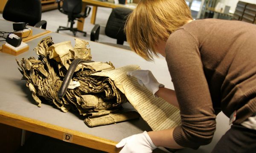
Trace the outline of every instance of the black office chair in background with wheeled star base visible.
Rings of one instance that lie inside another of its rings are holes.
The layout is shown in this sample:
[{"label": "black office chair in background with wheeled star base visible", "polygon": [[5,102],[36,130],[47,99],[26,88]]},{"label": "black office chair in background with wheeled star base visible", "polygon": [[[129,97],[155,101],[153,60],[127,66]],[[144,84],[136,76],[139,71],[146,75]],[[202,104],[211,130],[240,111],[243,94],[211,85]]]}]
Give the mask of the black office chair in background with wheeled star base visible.
[{"label": "black office chair in background with wheeled star base visible", "polygon": [[[62,2],[62,6],[61,6],[61,2]],[[80,17],[83,17],[83,18],[88,17],[91,10],[90,7],[86,6],[84,10],[84,14],[80,14],[82,11],[82,0],[58,0],[58,10],[61,13],[67,14],[68,23],[70,22],[70,27],[59,26],[59,28],[57,29],[57,32],[62,30],[70,30],[73,32],[73,35],[76,36],[76,32],[79,31],[84,33],[84,37],[86,36],[85,31],[80,31],[77,28],[73,28],[73,25],[75,24],[74,20],[78,20],[79,22],[82,22],[81,20],[79,20]]]}]

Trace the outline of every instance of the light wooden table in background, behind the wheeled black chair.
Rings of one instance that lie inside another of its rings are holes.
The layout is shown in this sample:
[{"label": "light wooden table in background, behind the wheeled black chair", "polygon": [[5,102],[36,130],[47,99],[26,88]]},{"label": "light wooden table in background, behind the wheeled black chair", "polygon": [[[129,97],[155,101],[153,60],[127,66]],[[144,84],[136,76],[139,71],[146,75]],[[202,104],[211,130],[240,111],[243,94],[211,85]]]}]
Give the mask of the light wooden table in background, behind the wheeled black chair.
[{"label": "light wooden table in background, behind the wheeled black chair", "polygon": [[[87,5],[93,6],[92,17],[91,17],[91,21],[90,21],[90,23],[92,23],[92,24],[95,24],[98,6],[108,7],[108,8],[125,7],[125,8],[130,8],[130,9],[134,9],[137,6],[137,3],[128,3],[128,4],[124,5],[124,4],[114,4],[114,3],[110,3],[110,2],[103,2],[103,1],[99,1],[99,0],[82,0],[82,1],[83,1],[82,10],[84,10],[85,6],[87,6]],[[80,18],[80,20],[82,22],[77,23],[77,28],[79,30],[83,30],[84,18]]]}]

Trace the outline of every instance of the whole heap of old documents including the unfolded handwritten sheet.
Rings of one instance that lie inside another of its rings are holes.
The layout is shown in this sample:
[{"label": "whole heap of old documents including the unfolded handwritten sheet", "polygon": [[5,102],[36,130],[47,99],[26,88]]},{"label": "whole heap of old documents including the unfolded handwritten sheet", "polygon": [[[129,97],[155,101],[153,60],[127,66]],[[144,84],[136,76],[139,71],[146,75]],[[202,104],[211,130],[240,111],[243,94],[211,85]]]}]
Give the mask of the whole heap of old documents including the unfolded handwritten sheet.
[{"label": "whole heap of old documents including the unfolded handwritten sheet", "polygon": [[[115,68],[111,62],[84,62],[76,67],[63,98],[58,98],[65,74],[74,59],[91,60],[88,42],[76,39],[54,44],[51,37],[38,43],[34,50],[38,59],[30,57],[18,62],[23,79],[38,106],[46,99],[63,112],[70,109],[85,116],[90,126],[122,122],[140,116],[152,130],[180,125],[180,112],[161,98],[155,98],[135,77],[126,73],[140,69],[138,65]],[[122,103],[130,102],[136,111],[122,111]],[[137,113],[138,112],[138,113]]]}]

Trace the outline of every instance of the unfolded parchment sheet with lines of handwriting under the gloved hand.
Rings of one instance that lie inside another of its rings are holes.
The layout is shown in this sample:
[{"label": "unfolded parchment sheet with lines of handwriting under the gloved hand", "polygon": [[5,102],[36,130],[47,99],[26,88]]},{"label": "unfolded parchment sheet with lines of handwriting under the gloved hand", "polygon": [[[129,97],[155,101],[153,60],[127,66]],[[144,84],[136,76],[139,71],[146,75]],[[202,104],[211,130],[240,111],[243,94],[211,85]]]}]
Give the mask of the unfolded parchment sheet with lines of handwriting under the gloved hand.
[{"label": "unfolded parchment sheet with lines of handwriting under the gloved hand", "polygon": [[180,125],[180,111],[162,98],[154,98],[147,88],[141,86],[135,77],[126,76],[127,71],[140,69],[138,65],[128,65],[111,71],[92,75],[107,76],[140,113],[152,130],[163,130]]}]

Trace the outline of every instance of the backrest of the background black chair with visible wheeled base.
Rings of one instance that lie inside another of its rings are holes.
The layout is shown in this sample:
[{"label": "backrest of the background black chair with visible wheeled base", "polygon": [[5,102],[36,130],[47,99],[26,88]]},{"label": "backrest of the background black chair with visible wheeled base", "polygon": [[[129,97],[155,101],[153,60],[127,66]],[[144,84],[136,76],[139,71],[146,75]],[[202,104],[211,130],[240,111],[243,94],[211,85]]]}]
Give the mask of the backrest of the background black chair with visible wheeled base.
[{"label": "backrest of the background black chair with visible wheeled base", "polygon": [[82,11],[82,0],[63,0],[62,9],[66,13],[79,14]]}]

